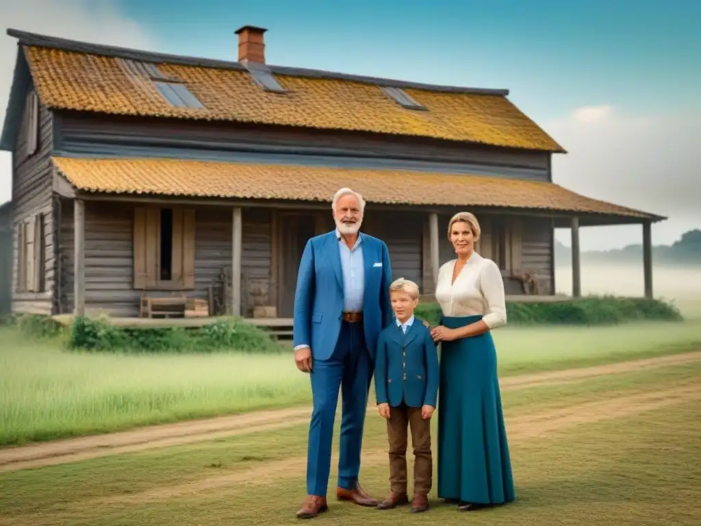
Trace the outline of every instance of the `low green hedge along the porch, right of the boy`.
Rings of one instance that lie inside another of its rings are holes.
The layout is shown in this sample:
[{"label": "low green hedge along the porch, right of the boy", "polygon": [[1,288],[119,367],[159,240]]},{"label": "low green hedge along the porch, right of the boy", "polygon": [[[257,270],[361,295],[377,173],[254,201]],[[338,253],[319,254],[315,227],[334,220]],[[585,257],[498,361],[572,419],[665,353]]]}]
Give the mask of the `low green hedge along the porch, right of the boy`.
[{"label": "low green hedge along the porch, right of the boy", "polygon": [[[419,304],[416,315],[440,321],[440,306]],[[661,299],[615,296],[583,297],[566,302],[507,302],[509,325],[618,325],[636,321],[683,321],[674,305]]]}]

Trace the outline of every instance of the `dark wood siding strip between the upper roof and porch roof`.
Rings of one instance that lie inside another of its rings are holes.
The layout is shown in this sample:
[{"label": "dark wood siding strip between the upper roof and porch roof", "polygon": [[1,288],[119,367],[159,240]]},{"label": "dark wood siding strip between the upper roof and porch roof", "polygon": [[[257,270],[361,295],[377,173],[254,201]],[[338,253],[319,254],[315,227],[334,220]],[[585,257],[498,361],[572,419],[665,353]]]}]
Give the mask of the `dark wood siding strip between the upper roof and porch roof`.
[{"label": "dark wood siding strip between the upper roof and porch roof", "polygon": [[550,180],[550,154],[283,126],[126,119],[60,112],[57,154],[393,168]]}]

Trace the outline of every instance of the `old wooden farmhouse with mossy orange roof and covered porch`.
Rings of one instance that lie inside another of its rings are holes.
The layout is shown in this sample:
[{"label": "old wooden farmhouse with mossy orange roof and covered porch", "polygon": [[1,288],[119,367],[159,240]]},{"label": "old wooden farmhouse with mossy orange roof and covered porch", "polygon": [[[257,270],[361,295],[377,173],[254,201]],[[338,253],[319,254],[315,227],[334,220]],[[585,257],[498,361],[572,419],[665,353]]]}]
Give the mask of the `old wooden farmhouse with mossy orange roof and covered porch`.
[{"label": "old wooden farmhouse with mossy orange roof and covered porch", "polygon": [[238,29],[225,62],[8,30],[13,311],[290,318],[301,251],[346,186],[426,294],[470,210],[508,295],[554,294],[554,227],[572,229],[578,295],[578,228],[624,223],[642,225],[652,295],[664,218],[554,184],[564,149],[508,90],[268,65],[265,31]]}]

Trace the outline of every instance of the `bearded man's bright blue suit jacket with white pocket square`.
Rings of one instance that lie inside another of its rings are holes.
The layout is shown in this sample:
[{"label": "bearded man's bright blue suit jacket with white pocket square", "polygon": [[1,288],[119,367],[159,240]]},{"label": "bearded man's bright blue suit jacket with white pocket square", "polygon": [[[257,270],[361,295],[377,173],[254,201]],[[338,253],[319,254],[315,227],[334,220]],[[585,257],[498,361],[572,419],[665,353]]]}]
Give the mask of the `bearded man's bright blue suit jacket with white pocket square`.
[{"label": "bearded man's bright blue suit jacket with white pocket square", "polygon": [[[387,245],[378,238],[362,236],[365,263],[365,296],[362,318],[365,344],[374,358],[380,331],[394,321],[389,288],[392,269]],[[311,346],[315,360],[328,360],[341,331],[343,313],[343,273],[336,231],[314,236],[304,247],[297,290],[294,293],[294,346]]]}]

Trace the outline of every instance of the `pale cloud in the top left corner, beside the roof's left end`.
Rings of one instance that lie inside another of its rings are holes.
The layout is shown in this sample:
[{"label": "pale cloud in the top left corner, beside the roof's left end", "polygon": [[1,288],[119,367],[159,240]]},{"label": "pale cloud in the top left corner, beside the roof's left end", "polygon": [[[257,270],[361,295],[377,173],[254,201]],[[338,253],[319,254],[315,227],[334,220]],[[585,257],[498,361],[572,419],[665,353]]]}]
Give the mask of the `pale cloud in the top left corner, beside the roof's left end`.
[{"label": "pale cloud in the top left corner, beside the roof's left end", "polygon": [[[154,42],[134,20],[126,18],[112,0],[22,0],[0,2],[0,126],[12,85],[17,40],[8,27],[113,46],[153,49]],[[10,154],[0,152],[0,203],[12,195]]]}]

